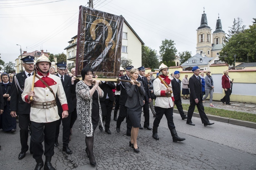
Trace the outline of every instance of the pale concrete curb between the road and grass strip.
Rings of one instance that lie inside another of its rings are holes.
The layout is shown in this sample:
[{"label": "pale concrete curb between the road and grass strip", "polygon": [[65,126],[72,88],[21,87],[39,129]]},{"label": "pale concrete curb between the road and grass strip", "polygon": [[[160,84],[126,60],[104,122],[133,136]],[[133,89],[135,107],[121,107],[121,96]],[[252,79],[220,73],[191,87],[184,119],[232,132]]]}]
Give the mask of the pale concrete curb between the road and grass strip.
[{"label": "pale concrete curb between the road and grass strip", "polygon": [[[178,109],[173,109],[174,113],[179,113]],[[186,115],[188,115],[188,111],[184,111]],[[225,123],[231,123],[234,125],[240,125],[240,126],[245,126],[245,127],[250,127],[256,129],[256,123],[254,122],[248,122],[244,120],[237,120],[237,119],[231,119],[227,117],[220,117],[220,116],[215,116],[215,115],[210,115],[206,114],[207,117],[211,120],[219,121],[219,122],[225,122]],[[200,117],[199,113],[194,112],[193,116]]]}]

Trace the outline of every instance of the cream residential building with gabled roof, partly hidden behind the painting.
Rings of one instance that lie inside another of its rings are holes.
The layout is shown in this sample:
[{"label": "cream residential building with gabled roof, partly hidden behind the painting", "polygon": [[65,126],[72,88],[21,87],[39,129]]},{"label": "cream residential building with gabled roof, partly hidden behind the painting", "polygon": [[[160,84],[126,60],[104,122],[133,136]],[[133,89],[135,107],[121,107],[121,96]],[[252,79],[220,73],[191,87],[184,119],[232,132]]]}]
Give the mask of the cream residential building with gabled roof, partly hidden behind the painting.
[{"label": "cream residential building with gabled roof, partly hidden behind the painting", "polygon": [[[126,20],[124,20],[123,23],[122,38],[121,58],[130,59],[135,68],[140,67],[142,63],[141,45],[144,45],[144,42],[139,38],[138,34],[136,34]],[[67,65],[68,67],[71,67],[76,65],[77,35],[72,37],[68,43],[68,47],[64,48],[64,50],[66,50]]]}]

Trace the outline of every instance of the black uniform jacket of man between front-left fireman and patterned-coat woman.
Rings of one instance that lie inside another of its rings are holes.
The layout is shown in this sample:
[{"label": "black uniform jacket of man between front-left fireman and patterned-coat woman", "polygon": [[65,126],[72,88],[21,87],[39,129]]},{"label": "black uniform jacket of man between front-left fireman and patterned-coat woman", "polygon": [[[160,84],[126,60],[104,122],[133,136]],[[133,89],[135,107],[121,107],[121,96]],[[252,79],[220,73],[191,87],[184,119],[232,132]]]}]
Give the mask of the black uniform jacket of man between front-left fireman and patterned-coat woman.
[{"label": "black uniform jacket of man between front-left fireman and patterned-coat woman", "polygon": [[[58,76],[58,74],[56,74],[56,76]],[[68,76],[68,75],[64,75],[63,88],[64,88],[64,91],[65,91],[66,100],[68,102],[68,113],[71,113],[71,112],[74,111],[72,95],[76,93],[76,84],[74,83],[72,85],[71,77]],[[58,99],[58,95],[56,95],[56,103],[57,103],[57,106],[58,106],[58,114],[62,114],[62,112],[63,112],[62,105],[60,104],[60,100]]]}]

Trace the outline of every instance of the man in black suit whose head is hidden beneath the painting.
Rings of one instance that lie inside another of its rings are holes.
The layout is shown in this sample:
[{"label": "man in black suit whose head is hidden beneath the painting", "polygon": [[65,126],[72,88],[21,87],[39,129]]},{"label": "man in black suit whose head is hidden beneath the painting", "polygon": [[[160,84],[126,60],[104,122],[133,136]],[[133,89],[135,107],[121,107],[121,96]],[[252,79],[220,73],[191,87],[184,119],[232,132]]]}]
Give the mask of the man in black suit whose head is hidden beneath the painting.
[{"label": "man in black suit whose head is hidden beneath the painting", "polygon": [[[101,90],[104,91],[104,96],[100,98],[100,106],[102,111],[102,120],[105,120],[105,132],[111,134],[109,127],[113,101],[115,101],[115,96],[113,94],[112,89],[115,89],[115,84],[113,82],[101,81],[99,87],[101,88]],[[99,125],[99,129],[100,131],[103,130],[101,125]]]}]

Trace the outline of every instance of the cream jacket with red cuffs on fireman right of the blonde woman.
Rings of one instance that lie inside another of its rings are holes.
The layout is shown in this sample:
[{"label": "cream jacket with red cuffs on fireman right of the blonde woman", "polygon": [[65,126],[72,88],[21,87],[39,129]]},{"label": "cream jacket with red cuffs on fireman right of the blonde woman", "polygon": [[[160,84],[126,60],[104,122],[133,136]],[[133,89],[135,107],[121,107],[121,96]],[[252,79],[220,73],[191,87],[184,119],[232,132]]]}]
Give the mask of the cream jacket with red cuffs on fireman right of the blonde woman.
[{"label": "cream jacket with red cuffs on fireman right of the blonde woman", "polygon": [[[169,78],[167,78],[169,79]],[[172,84],[169,84],[172,87]],[[165,95],[165,90],[167,89],[163,83],[161,83],[160,79],[155,79],[153,82],[153,89],[154,94],[157,96],[155,101],[155,106],[162,107],[162,108],[171,108],[173,107],[173,93],[171,94],[172,97],[159,97]],[[169,92],[170,93],[170,92]]]}]

